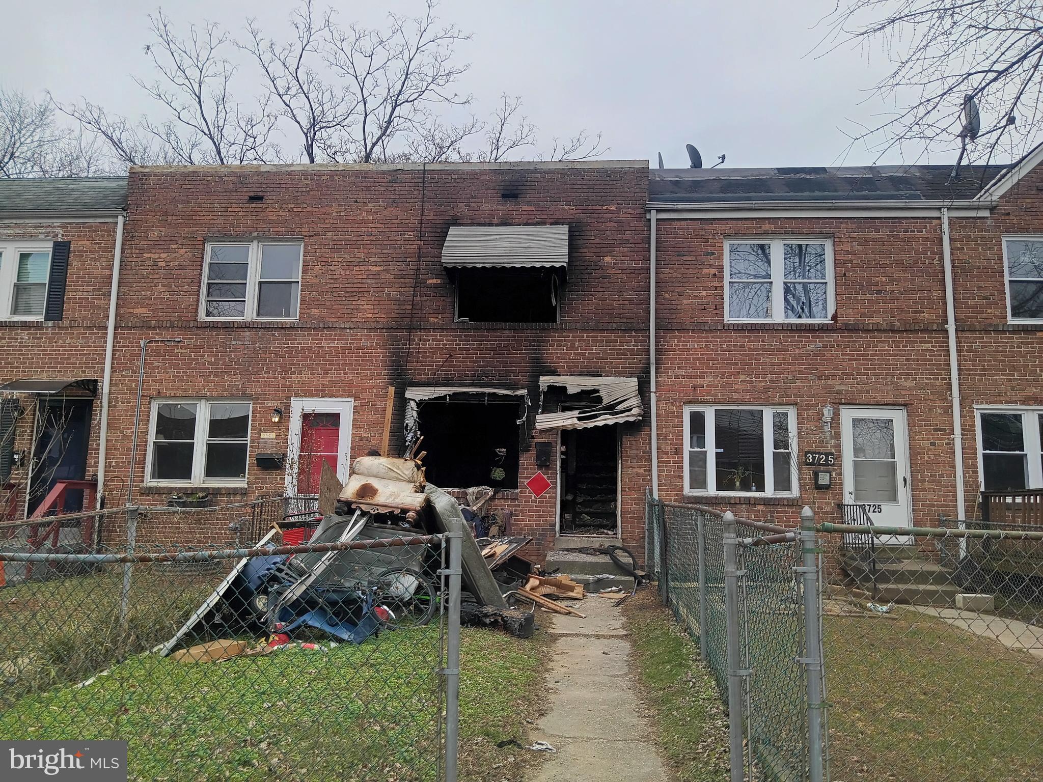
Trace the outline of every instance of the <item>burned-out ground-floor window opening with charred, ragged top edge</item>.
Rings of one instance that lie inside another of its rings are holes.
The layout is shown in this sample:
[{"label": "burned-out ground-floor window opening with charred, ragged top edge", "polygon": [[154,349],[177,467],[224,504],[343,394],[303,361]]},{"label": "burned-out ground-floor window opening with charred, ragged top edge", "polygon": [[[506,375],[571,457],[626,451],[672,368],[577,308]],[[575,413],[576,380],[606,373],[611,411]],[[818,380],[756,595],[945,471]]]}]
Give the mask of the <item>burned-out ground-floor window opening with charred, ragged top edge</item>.
[{"label": "burned-out ground-floor window opening with charred, ragged top edge", "polygon": [[435,486],[517,489],[529,396],[525,390],[406,389],[406,446],[419,449]]}]

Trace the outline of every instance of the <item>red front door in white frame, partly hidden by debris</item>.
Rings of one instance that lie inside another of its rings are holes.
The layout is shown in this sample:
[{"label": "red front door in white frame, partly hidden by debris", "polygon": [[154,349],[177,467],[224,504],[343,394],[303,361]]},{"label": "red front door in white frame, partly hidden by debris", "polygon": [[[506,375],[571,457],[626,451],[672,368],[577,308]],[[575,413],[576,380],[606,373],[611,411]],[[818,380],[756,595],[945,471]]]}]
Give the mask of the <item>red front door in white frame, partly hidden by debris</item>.
[{"label": "red front door in white frame, partly hidden by debris", "polygon": [[347,482],[351,450],[351,399],[290,400],[290,442],[286,491],[290,496],[317,496],[322,464]]}]

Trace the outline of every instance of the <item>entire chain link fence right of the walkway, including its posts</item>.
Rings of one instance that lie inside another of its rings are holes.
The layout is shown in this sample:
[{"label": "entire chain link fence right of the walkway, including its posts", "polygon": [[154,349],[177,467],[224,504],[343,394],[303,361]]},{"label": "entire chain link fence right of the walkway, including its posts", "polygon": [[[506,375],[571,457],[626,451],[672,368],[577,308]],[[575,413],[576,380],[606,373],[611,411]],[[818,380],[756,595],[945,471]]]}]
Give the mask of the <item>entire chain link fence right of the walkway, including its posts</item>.
[{"label": "entire chain link fence right of the walkway, including its posts", "polygon": [[729,706],[733,782],[1041,778],[1043,530],[648,506],[660,593]]}]

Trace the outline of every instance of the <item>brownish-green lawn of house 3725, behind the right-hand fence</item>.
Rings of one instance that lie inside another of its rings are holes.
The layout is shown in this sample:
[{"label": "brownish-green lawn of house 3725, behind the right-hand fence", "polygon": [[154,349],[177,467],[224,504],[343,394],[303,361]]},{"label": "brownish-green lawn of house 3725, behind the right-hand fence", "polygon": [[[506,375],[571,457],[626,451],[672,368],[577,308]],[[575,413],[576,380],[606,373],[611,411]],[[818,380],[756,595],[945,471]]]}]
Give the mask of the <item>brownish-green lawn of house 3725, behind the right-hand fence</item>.
[{"label": "brownish-green lawn of house 3725, behind the right-hand fence", "polygon": [[896,617],[825,617],[831,779],[1039,780],[1043,663],[911,609]]}]

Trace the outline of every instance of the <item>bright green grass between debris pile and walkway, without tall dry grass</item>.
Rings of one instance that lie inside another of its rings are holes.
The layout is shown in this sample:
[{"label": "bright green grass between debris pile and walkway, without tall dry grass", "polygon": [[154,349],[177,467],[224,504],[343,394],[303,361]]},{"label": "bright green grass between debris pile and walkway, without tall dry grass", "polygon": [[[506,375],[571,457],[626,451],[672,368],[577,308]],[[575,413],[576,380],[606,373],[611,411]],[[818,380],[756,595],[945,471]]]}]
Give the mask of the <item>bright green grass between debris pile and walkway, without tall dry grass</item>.
[{"label": "bright green grass between debris pile and walkway, without tall dry grass", "polygon": [[[325,654],[294,649],[209,664],[141,655],[89,686],[23,698],[0,712],[0,737],[125,739],[137,780],[434,780],[438,636],[429,626]],[[495,743],[524,737],[541,647],[464,629],[463,779],[502,779],[518,762],[516,750]]]}]

